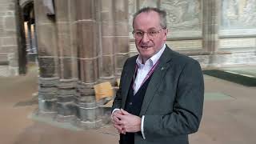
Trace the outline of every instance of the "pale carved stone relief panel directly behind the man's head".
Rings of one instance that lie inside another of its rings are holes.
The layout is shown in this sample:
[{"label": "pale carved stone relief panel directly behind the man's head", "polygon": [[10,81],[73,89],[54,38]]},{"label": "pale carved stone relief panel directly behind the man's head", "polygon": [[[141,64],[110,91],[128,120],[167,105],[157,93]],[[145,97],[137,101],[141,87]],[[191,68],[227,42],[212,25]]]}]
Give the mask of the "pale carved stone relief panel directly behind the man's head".
[{"label": "pale carved stone relief panel directly behind the man's head", "polygon": [[[138,1],[138,3],[137,3]],[[137,9],[157,7],[156,0],[129,0],[130,38],[132,38],[132,20]],[[139,6],[136,6],[138,4]],[[159,8],[167,12],[167,25],[171,31],[168,37],[201,37],[202,36],[202,0],[161,0]]]}]

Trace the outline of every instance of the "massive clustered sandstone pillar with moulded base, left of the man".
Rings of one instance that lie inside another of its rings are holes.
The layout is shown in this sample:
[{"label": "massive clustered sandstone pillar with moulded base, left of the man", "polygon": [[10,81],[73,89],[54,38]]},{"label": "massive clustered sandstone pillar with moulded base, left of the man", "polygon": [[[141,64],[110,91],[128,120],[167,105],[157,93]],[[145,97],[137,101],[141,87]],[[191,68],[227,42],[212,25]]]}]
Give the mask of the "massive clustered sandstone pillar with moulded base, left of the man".
[{"label": "massive clustered sandstone pillar with moulded base, left of the man", "polygon": [[49,16],[43,1],[34,1],[39,114],[85,128],[106,122],[93,86],[114,84],[129,56],[126,2],[55,0]]}]

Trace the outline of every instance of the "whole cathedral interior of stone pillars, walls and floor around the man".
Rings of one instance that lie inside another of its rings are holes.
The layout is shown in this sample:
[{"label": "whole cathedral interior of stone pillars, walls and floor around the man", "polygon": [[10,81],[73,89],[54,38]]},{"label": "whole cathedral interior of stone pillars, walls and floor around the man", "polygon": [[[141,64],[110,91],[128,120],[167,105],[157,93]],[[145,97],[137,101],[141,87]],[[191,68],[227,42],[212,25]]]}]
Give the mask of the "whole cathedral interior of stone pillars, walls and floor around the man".
[{"label": "whole cathedral interior of stone pillars, walls and floor around the man", "polygon": [[0,0],[3,143],[117,143],[111,102],[146,6],[166,10],[166,45],[202,66],[192,143],[255,143],[256,0]]}]

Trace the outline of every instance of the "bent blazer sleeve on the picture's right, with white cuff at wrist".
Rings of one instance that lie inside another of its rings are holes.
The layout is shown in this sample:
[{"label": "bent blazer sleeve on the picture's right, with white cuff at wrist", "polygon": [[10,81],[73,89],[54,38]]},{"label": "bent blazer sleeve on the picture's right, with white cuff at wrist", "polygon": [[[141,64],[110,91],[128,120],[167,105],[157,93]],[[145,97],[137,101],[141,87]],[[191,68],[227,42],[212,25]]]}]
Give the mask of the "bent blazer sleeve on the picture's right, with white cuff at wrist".
[{"label": "bent blazer sleeve on the picture's right, with white cuff at wrist", "polygon": [[173,111],[166,115],[145,115],[146,138],[192,134],[202,118],[204,82],[197,61],[186,62],[179,74]]}]

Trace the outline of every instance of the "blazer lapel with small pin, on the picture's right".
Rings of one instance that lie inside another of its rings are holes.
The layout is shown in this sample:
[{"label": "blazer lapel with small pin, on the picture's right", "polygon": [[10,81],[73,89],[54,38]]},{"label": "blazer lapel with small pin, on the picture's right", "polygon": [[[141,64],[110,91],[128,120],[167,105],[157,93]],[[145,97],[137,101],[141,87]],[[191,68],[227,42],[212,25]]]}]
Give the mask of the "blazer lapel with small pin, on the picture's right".
[{"label": "blazer lapel with small pin, on the picture's right", "polygon": [[146,113],[146,110],[150,105],[152,98],[154,98],[154,94],[158,90],[158,86],[160,86],[160,83],[162,82],[162,78],[165,77],[166,71],[169,69],[170,60],[171,60],[171,50],[168,46],[166,46],[166,50],[164,50],[164,52],[162,53],[162,56],[159,59],[159,64],[157,68],[154,70],[154,74],[152,75],[152,78],[150,79],[150,83],[146,89],[146,94],[142,102],[142,109],[139,114],[140,116]]}]

